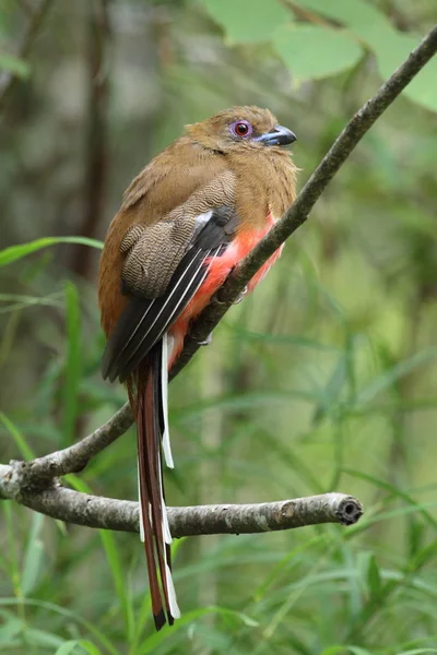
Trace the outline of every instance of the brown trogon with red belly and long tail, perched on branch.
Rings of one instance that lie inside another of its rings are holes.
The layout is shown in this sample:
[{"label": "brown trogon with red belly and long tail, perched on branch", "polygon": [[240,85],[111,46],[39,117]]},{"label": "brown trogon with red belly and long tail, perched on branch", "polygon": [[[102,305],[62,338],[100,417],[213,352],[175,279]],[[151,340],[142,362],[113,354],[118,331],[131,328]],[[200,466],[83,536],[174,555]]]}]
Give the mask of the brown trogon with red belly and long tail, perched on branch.
[{"label": "brown trogon with red belly and long tail, perched on branch", "polygon": [[[126,190],[98,273],[104,379],[127,384],[137,424],[140,537],[156,630],[180,617],[172,576],[163,460],[168,371],[190,323],[293,203],[296,140],[269,109],[232,107],[186,126]],[[282,247],[248,284],[252,290]]]}]

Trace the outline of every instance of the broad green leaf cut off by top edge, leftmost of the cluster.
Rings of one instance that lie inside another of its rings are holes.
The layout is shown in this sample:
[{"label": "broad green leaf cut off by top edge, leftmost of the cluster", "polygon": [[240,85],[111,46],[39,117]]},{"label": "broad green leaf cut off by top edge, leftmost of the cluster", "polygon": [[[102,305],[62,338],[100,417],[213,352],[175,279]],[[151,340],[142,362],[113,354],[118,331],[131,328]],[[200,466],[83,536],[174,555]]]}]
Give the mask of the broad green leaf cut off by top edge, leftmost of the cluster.
[{"label": "broad green leaf cut off by top edge, leftmost of the cluster", "polygon": [[268,41],[292,19],[279,0],[203,0],[203,4],[231,43]]}]

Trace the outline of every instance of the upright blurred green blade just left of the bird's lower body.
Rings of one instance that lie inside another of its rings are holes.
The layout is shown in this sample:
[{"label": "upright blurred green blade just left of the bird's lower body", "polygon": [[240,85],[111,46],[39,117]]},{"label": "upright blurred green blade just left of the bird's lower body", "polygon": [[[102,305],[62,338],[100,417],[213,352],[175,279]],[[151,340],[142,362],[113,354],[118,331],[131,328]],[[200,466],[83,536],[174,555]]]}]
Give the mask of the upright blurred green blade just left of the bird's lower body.
[{"label": "upright blurred green blade just left of the bird's lower body", "polygon": [[79,291],[71,283],[66,285],[67,312],[67,362],[63,391],[63,443],[69,444],[74,437],[79,413],[79,384],[81,381],[81,310]]}]

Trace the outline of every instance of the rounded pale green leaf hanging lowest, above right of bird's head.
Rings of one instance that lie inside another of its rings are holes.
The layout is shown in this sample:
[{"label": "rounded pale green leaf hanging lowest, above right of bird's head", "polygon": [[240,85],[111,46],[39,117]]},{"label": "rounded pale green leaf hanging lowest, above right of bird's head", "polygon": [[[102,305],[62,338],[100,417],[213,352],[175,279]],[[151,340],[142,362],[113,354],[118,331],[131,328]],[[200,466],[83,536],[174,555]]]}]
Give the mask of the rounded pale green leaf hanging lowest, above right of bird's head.
[{"label": "rounded pale green leaf hanging lowest, above right of bird's head", "polygon": [[363,50],[345,32],[319,25],[284,25],[273,47],[292,74],[320,79],[345,71],[359,61]]}]

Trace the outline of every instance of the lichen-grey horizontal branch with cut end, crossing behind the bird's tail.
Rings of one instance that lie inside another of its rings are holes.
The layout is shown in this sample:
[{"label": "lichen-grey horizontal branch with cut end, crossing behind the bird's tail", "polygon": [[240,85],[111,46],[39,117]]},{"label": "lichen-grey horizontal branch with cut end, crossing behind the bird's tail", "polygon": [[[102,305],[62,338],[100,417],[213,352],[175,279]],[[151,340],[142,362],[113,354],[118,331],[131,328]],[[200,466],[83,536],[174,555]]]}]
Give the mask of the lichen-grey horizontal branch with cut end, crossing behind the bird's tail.
[{"label": "lichen-grey horizontal branch with cut end, crossing behind the bird's tail", "polygon": [[[90,496],[67,489],[58,481],[37,490],[29,486],[29,464],[0,465],[0,498],[76,525],[140,532],[138,502]],[[215,534],[251,534],[304,525],[352,525],[363,514],[358,500],[344,493],[323,493],[259,504],[220,504],[168,508],[174,537]]]}]

